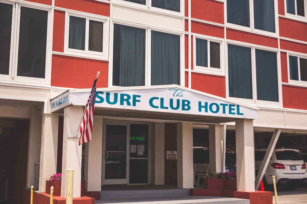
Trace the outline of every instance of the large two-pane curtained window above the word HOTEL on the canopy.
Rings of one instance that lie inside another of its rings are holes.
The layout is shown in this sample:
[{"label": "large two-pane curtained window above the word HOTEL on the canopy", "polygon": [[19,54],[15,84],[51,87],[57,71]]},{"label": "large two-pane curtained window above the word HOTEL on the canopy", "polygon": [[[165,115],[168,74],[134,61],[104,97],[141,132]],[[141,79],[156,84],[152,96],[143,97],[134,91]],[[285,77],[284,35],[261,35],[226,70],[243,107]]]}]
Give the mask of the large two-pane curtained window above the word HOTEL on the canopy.
[{"label": "large two-pane curtained window above the word HOTEL on the canopy", "polygon": [[229,97],[278,102],[277,53],[259,49],[253,53],[249,47],[228,45]]}]

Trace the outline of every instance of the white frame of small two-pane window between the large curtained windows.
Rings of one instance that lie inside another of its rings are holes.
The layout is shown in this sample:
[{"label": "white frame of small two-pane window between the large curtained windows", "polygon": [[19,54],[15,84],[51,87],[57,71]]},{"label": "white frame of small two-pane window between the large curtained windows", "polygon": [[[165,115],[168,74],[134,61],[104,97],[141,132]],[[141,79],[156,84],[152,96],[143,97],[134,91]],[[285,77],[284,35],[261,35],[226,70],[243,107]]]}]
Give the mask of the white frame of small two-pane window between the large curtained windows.
[{"label": "white frame of small two-pane window between the large curtained windows", "polygon": [[[214,42],[214,43],[220,43],[220,69],[219,68],[214,68],[214,67],[203,67],[203,66],[199,66],[196,65],[196,38],[198,39],[204,39],[207,40],[208,46],[208,65],[210,65],[210,42]],[[223,41],[218,41],[218,40],[214,40],[214,39],[210,39],[210,38],[204,38],[204,37],[199,37],[199,36],[195,36],[193,35],[193,67],[195,71],[200,71],[200,72],[206,72],[208,74],[216,74],[216,75],[225,75],[225,68],[224,68],[224,64],[222,63],[224,61],[224,55],[223,55],[223,51],[224,51],[224,42]]]}]

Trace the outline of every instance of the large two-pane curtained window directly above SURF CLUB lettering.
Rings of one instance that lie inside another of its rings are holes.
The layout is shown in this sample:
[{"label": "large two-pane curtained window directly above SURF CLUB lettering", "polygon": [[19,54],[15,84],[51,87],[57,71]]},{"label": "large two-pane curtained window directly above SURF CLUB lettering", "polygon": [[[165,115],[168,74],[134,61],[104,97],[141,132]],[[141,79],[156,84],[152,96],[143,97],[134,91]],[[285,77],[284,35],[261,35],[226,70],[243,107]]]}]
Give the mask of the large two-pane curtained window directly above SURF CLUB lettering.
[{"label": "large two-pane curtained window directly above SURF CLUB lettering", "polygon": [[180,35],[150,33],[146,70],[146,29],[114,24],[113,86],[180,84]]}]

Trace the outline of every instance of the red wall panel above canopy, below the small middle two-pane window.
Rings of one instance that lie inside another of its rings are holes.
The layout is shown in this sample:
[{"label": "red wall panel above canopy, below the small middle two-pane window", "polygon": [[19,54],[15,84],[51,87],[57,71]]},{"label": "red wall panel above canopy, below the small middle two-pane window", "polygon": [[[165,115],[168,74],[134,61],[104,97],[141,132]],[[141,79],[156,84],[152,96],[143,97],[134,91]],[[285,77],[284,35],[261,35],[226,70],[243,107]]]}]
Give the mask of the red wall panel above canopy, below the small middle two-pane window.
[{"label": "red wall panel above canopy, below the small middle two-pane window", "polygon": [[226,98],[225,77],[192,73],[191,88],[208,94]]}]

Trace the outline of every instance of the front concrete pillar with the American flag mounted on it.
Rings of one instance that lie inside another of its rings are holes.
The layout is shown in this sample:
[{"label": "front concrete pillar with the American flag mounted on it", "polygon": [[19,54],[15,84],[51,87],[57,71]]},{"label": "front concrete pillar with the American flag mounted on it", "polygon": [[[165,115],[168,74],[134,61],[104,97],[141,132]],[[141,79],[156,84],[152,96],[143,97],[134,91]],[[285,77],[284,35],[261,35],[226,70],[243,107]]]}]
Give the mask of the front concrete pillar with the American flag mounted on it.
[{"label": "front concrete pillar with the American flag mounted on it", "polygon": [[83,117],[82,106],[67,106],[64,108],[63,125],[63,158],[62,158],[62,185],[61,197],[66,198],[67,169],[74,170],[73,198],[81,196],[81,159],[82,145],[79,146],[80,138],[69,137],[76,133]]}]

